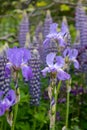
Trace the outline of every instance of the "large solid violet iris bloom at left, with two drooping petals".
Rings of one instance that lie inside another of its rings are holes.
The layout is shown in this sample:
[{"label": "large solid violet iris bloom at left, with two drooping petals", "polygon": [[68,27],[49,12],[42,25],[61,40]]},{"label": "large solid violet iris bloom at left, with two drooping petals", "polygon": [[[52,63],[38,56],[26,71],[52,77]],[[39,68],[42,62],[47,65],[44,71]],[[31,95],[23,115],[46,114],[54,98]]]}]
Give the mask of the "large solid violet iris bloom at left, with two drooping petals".
[{"label": "large solid violet iris bloom at left, with two drooping petals", "polygon": [[26,48],[12,48],[7,50],[7,58],[9,62],[6,64],[6,73],[8,76],[11,72],[11,69],[14,71],[22,70],[22,75],[27,80],[32,77],[32,70],[27,66],[28,60],[31,58],[30,51]]}]

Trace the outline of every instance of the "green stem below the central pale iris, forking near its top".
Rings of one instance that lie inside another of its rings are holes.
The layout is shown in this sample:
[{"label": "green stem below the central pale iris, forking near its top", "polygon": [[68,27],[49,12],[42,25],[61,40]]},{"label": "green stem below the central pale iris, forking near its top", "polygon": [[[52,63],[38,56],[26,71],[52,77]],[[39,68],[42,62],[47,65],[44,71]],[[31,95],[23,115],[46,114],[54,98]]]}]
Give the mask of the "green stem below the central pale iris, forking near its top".
[{"label": "green stem below the central pale iris, forking near its top", "polygon": [[56,88],[56,86],[54,87],[55,111],[54,111],[54,125],[53,125],[53,128],[51,130],[55,130],[55,126],[56,126],[56,110],[57,110],[57,100],[58,100],[60,86],[61,86],[61,81],[59,81],[57,88]]}]

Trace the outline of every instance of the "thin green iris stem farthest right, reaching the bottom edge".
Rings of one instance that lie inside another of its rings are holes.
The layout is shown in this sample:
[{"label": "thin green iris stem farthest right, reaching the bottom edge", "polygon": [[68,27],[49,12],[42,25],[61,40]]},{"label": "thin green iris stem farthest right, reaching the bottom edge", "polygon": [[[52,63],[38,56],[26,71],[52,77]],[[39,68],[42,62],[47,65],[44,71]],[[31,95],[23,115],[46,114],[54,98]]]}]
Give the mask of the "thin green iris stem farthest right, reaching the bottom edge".
[{"label": "thin green iris stem farthest right, reaching the bottom edge", "polygon": [[69,118],[69,100],[70,100],[70,90],[69,84],[67,84],[67,104],[66,104],[66,130],[68,129],[68,118]]}]

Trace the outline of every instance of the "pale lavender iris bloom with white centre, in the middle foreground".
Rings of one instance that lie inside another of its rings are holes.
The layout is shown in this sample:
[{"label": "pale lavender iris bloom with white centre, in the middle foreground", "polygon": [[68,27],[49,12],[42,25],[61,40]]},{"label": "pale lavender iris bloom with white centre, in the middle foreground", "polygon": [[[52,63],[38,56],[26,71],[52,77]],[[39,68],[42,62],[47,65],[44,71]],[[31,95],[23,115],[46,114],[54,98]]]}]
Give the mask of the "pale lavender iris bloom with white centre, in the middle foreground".
[{"label": "pale lavender iris bloom with white centre, in the middle foreground", "polygon": [[[54,63],[54,59],[56,58],[56,63]],[[48,67],[45,67],[42,70],[44,76],[47,73],[56,73],[57,78],[59,80],[67,80],[70,79],[70,75],[63,70],[64,67],[64,59],[61,56],[56,56],[56,53],[50,53],[46,57],[46,63]]]}]

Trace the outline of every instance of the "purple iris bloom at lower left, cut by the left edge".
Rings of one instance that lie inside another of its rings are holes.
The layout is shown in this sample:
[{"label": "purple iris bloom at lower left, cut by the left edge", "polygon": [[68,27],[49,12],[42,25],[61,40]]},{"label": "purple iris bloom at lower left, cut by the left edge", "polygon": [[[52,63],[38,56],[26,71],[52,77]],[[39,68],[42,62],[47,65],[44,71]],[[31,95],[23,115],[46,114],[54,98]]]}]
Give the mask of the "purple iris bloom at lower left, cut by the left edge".
[{"label": "purple iris bloom at lower left, cut by the left edge", "polygon": [[0,91],[0,116],[4,115],[6,110],[16,103],[16,95],[14,90],[9,90],[4,96],[4,92]]}]

